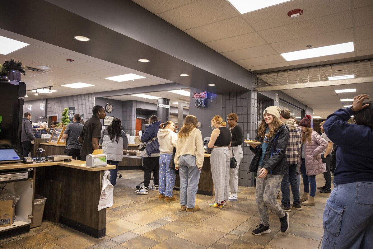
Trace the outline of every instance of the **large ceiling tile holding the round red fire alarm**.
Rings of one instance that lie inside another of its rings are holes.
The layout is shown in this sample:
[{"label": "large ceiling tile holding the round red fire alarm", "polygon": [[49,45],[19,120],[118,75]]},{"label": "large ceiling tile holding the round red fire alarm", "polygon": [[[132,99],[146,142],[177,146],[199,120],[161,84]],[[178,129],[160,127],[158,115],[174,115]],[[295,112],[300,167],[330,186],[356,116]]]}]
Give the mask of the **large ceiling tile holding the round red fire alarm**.
[{"label": "large ceiling tile holding the round red fire alarm", "polygon": [[[301,9],[304,12],[299,18],[292,19],[287,15],[292,9]],[[245,18],[256,31],[260,31],[289,24],[298,25],[303,21],[350,9],[350,0],[294,0],[250,12],[242,15],[242,17]]]}]

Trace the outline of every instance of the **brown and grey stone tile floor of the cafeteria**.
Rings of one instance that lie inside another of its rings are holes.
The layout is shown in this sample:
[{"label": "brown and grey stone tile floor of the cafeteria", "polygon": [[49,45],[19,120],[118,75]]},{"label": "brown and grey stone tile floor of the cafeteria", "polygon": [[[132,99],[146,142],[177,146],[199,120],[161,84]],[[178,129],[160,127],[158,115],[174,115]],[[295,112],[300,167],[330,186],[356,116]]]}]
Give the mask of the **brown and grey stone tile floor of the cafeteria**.
[{"label": "brown and grey stone tile floor of the cafeteria", "polygon": [[[323,236],[322,215],[329,194],[316,192],[316,206],[302,211],[292,209],[290,228],[280,232],[280,222],[270,213],[271,233],[254,236],[259,224],[254,187],[239,187],[238,201],[227,202],[223,209],[210,208],[213,196],[197,194],[200,211],[180,211],[179,201],[158,200],[158,192],[134,192],[143,171],[121,171],[114,188],[114,204],[107,209],[106,236],[95,239],[72,228],[50,221],[21,236],[0,240],[5,249],[318,249]],[[323,186],[323,175],[316,176]],[[300,190],[303,194],[303,184]],[[179,192],[174,190],[179,199]],[[280,202],[280,198],[277,199]]]}]

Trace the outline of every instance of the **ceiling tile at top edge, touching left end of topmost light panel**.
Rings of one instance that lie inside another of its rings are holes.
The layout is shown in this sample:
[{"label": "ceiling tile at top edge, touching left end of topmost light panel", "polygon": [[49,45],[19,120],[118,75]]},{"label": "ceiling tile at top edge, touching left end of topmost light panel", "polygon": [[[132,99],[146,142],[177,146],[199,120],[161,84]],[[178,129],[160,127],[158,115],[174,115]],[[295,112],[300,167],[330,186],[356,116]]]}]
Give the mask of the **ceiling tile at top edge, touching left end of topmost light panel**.
[{"label": "ceiling tile at top edge, touching left end of topmost light panel", "polygon": [[226,0],[194,1],[159,14],[161,18],[181,30],[194,28],[238,16]]}]

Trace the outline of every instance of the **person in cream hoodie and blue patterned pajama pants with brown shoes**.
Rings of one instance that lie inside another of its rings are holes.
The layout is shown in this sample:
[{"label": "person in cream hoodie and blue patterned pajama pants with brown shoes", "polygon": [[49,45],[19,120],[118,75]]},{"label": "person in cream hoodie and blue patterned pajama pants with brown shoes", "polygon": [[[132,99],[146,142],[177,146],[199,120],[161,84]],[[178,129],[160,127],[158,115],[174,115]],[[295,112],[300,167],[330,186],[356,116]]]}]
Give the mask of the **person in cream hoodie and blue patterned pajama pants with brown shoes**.
[{"label": "person in cream hoodie and blue patterned pajama pants with brown shoes", "polygon": [[170,162],[173,153],[173,147],[176,147],[178,135],[175,133],[175,124],[167,121],[159,125],[157,133],[159,142],[159,196],[158,200],[172,202],[176,200],[172,190],[175,186],[175,169],[170,168]]}]

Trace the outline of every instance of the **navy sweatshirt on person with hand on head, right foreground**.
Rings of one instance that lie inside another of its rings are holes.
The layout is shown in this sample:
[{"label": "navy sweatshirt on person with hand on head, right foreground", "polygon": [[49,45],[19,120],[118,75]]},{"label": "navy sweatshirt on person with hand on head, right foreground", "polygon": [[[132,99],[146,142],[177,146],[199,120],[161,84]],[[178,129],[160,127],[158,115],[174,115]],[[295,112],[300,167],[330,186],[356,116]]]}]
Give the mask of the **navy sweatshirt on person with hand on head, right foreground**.
[{"label": "navy sweatshirt on person with hand on head, right foreground", "polygon": [[373,181],[373,130],[365,125],[348,124],[354,111],[339,109],[330,114],[323,128],[336,144],[335,184]]}]

